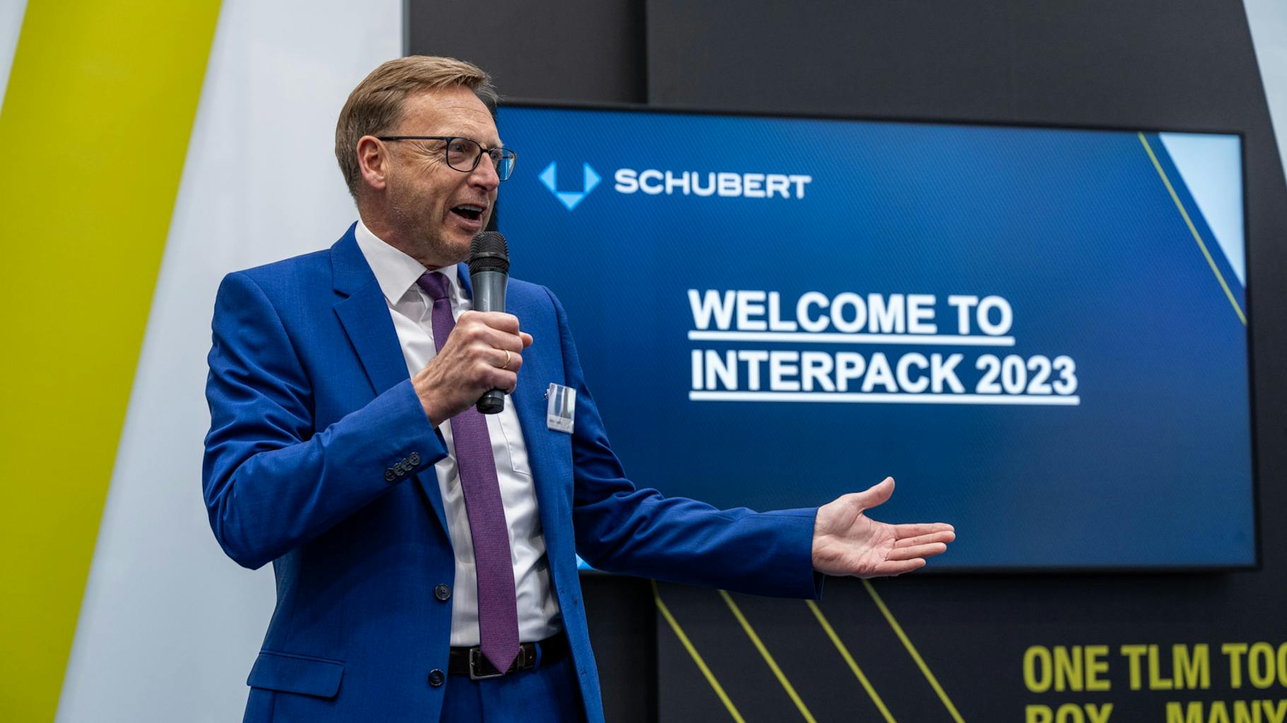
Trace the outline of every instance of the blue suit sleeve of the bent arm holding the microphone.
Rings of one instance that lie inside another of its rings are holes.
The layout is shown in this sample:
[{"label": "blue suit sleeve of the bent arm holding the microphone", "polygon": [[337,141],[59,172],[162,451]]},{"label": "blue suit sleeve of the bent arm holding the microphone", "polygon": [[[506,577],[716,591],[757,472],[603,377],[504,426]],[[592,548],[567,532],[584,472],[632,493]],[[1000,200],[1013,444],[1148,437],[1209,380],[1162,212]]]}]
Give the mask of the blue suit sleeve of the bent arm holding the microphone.
[{"label": "blue suit sleeve of the bent arm holding the microphone", "polygon": [[[220,284],[212,328],[202,491],[215,538],[239,565],[281,557],[447,455],[411,380],[313,434],[311,383],[246,274]],[[403,473],[386,480],[394,466]]]}]

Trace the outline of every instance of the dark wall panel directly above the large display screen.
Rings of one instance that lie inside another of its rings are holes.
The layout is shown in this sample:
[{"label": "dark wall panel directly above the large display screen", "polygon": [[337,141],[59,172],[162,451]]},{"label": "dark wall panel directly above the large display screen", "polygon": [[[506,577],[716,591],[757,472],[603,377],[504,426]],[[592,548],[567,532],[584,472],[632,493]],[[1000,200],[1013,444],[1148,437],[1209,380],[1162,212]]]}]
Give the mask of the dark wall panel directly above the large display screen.
[{"label": "dark wall panel directly above the large display screen", "polygon": [[[1228,127],[1268,122],[1229,0],[650,0],[658,105]],[[1196,129],[1190,129],[1196,130]]]}]

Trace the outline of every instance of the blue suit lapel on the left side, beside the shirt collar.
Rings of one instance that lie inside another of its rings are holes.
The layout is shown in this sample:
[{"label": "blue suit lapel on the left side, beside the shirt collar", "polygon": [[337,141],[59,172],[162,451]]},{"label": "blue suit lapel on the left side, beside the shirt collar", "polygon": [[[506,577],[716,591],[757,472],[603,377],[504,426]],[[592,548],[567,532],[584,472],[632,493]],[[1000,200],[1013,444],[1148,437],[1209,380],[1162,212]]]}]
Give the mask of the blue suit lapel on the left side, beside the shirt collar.
[{"label": "blue suit lapel on the left side, beside the shirt collar", "polygon": [[[335,246],[331,247],[331,268],[335,273],[335,291],[342,296],[335,304],[335,314],[344,332],[353,343],[353,350],[362,362],[362,368],[371,382],[371,390],[384,394],[407,381],[407,360],[398,341],[398,331],[389,316],[389,304],[380,291],[376,275],[371,271],[366,256],[353,235],[356,224],[349,226]],[[438,486],[438,475],[426,470],[416,475],[416,481],[425,490],[430,506],[438,516],[438,522],[447,531],[447,513],[443,509],[443,491]]]}]

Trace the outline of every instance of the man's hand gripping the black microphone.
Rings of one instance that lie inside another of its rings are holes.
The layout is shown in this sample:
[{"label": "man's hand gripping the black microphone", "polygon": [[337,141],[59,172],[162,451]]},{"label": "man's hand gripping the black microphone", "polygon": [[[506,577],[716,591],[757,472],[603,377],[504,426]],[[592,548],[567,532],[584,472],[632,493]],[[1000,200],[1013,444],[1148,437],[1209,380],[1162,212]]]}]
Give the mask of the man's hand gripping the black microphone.
[{"label": "man's hand gripping the black microphone", "polygon": [[430,423],[436,427],[474,407],[489,390],[512,392],[528,346],[532,334],[519,331],[514,314],[461,314],[443,349],[411,380]]}]

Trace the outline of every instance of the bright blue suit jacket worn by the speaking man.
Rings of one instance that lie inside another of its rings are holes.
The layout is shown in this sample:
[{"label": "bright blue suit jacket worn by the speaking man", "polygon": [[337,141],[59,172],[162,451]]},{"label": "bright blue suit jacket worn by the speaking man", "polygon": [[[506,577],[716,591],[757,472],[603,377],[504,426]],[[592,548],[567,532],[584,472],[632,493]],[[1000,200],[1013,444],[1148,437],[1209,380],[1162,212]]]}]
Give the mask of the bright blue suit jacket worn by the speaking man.
[{"label": "bright blue suit jacket worn by the speaking man", "polygon": [[[463,266],[459,278],[467,286]],[[507,297],[535,338],[510,399],[586,715],[601,720],[578,551],[604,570],[813,597],[816,511],[719,511],[636,489],[607,444],[559,300],[520,280]],[[546,426],[550,382],[577,390],[571,435]],[[447,670],[452,602],[434,589],[454,584],[434,471],[447,450],[353,228],[327,251],[224,279],[206,396],[210,525],[229,557],[273,562],[277,575],[246,720],[436,720],[444,686],[430,673]],[[399,462],[409,471],[386,481]]]}]

